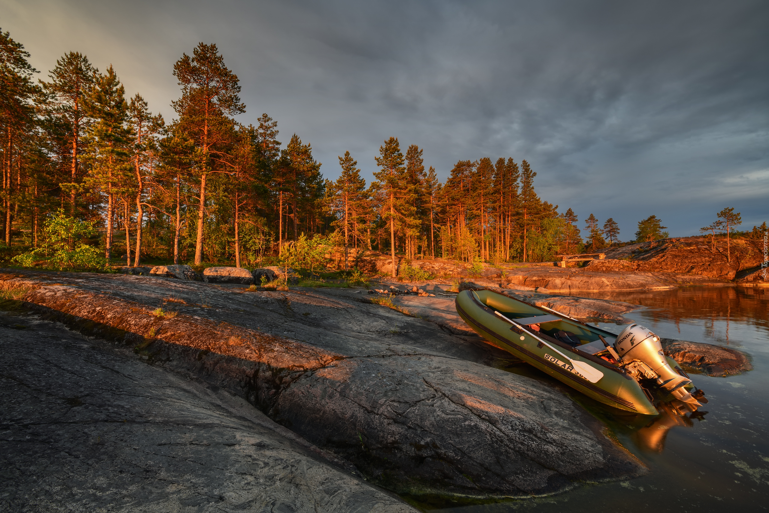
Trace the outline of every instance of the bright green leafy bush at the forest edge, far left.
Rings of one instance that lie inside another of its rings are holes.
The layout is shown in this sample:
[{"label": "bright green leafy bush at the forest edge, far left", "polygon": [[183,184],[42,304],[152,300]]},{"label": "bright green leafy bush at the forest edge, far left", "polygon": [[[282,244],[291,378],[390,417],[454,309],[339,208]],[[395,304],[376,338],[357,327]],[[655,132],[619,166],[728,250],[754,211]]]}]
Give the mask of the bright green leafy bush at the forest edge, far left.
[{"label": "bright green leafy bush at the forest edge, far left", "polygon": [[48,215],[43,231],[43,245],[13,258],[18,265],[30,266],[35,258],[48,257],[48,267],[80,271],[106,271],[108,261],[101,250],[82,242],[96,234],[95,222],[68,217],[61,210]]}]

